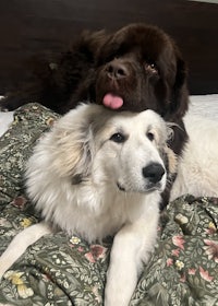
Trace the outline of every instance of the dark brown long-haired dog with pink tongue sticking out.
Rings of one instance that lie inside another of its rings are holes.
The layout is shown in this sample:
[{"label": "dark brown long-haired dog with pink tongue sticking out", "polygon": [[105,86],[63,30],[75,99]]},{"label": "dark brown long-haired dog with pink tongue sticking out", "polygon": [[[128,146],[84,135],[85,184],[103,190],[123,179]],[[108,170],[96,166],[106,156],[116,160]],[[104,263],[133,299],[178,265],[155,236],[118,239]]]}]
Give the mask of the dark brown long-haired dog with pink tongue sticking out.
[{"label": "dark brown long-haired dog with pink tongue sticking out", "polygon": [[34,72],[34,82],[2,99],[1,108],[38,102],[64,114],[82,101],[117,110],[150,108],[175,123],[169,145],[182,153],[187,138],[182,121],[189,105],[186,67],[160,28],[131,24],[110,35],[85,32],[55,63],[38,59]]}]

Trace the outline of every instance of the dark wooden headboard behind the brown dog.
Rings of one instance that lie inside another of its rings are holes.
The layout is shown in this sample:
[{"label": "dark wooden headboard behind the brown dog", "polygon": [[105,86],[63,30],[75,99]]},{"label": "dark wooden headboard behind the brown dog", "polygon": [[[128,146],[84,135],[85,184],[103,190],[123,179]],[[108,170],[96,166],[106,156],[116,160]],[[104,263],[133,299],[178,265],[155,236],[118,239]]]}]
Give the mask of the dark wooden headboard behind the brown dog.
[{"label": "dark wooden headboard behind the brown dog", "polygon": [[0,94],[28,78],[24,62],[59,52],[83,30],[156,24],[178,43],[191,94],[218,93],[218,4],[179,0],[0,1]]}]

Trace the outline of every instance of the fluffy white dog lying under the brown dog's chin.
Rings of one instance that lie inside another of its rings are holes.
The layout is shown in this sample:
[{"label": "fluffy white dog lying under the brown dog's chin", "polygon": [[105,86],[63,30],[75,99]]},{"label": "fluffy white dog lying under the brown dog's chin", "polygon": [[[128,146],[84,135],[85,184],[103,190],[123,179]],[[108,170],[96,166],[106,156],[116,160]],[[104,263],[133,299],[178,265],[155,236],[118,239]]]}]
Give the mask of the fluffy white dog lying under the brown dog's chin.
[{"label": "fluffy white dog lying under the brown dog's chin", "polygon": [[[128,305],[157,236],[170,129],[154,111],[116,113],[82,105],[36,145],[26,185],[45,222],[21,232],[0,259],[0,276],[50,225],[87,242],[116,235],[105,305]],[[14,251],[15,248],[15,251]]]}]

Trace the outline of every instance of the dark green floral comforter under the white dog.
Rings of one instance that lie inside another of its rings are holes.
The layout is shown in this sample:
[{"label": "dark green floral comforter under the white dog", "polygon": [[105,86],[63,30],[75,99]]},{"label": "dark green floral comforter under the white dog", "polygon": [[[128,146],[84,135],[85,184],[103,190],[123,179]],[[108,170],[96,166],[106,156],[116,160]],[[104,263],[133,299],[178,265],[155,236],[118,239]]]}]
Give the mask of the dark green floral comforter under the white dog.
[{"label": "dark green floral comforter under the white dog", "polygon": [[[22,174],[37,139],[57,118],[40,105],[26,105],[0,139],[0,254],[38,221]],[[218,199],[186,196],[170,203],[131,305],[218,305],[217,226]],[[0,305],[102,305],[111,240],[88,245],[62,232],[41,238],[5,272]]]}]

